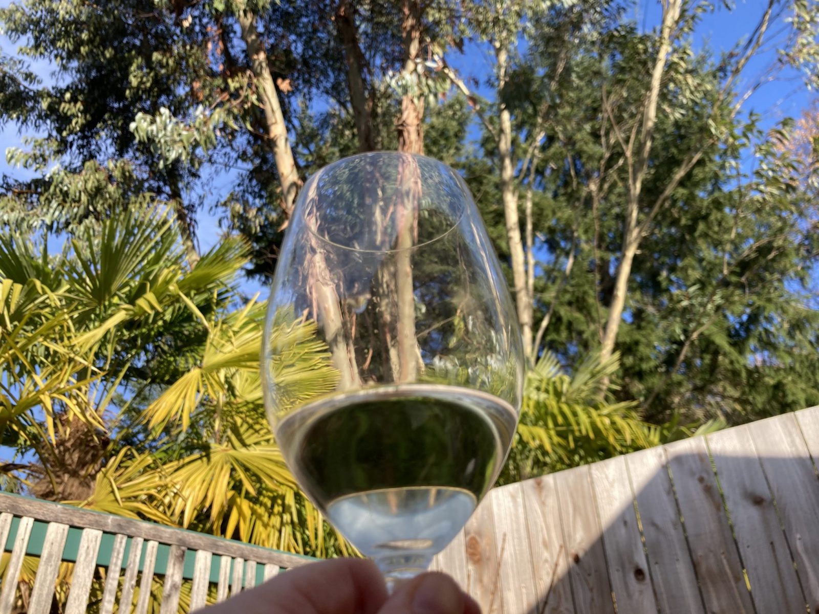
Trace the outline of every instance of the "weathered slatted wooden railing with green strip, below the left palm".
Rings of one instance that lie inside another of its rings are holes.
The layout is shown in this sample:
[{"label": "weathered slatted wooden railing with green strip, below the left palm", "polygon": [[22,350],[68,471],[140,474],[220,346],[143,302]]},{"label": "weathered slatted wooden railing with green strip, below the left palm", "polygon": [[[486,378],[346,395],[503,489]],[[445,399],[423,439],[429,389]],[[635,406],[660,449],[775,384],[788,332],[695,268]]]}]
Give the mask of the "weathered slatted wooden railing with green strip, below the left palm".
[{"label": "weathered slatted wooden railing with green strip, below the left palm", "polygon": [[[150,607],[152,612],[176,614],[185,580],[192,582],[189,593],[188,586],[184,591],[182,609],[192,611],[205,605],[209,592],[211,598],[215,594],[217,601],[223,601],[275,576],[282,567],[313,560],[2,493],[0,544],[11,550],[0,585],[0,614],[49,612],[63,562],[73,563],[66,614],[86,612],[95,574],[99,580],[98,568],[106,570],[96,604],[100,614],[111,614],[115,602],[119,612],[146,614]],[[38,558],[36,576],[33,585],[20,590],[26,556]],[[152,590],[155,576],[161,577],[160,597]]]}]

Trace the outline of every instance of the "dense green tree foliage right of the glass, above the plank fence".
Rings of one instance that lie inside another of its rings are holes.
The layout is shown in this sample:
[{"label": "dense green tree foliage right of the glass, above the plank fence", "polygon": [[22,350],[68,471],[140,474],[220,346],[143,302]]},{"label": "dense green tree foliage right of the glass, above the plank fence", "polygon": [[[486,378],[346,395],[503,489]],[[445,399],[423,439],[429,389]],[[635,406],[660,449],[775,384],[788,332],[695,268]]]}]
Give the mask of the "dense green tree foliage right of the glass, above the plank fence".
[{"label": "dense green tree foliage right of the glass, above the plank fence", "polygon": [[[758,115],[737,111],[745,95],[735,91],[729,66],[739,55],[717,61],[707,47],[695,51],[697,7],[686,5],[663,66],[634,209],[649,223],[637,228],[615,345],[621,368],[612,381],[619,383],[615,400],[638,400],[651,421],[681,413],[685,422],[735,423],[819,402],[817,209],[796,173],[799,158],[781,146],[790,122],[763,128]],[[511,113],[515,159],[527,156],[529,135],[543,129],[536,169],[519,178],[518,189],[532,190],[542,347],[572,371],[600,346],[618,295],[635,164],[628,151],[640,143],[660,38],[640,32],[616,4],[600,11],[584,12],[584,20],[595,19],[591,34],[568,50],[550,38],[552,29],[537,26],[546,34],[514,57],[499,93]],[[558,23],[553,17],[543,19]],[[463,168],[509,262],[491,128]],[[678,169],[687,170],[667,191]]]}]

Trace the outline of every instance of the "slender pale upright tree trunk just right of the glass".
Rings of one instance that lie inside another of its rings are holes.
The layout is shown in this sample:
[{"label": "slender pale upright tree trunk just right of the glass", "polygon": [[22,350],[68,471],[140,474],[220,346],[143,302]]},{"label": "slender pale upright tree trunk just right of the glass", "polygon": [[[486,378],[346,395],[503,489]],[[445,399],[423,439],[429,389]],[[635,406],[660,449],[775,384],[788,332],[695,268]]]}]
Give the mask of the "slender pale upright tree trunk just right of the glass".
[{"label": "slender pale upright tree trunk just right of the glass", "polygon": [[[500,45],[495,47],[498,70],[498,91],[504,88],[509,55]],[[518,214],[518,191],[515,185],[514,164],[512,162],[512,116],[509,109],[500,104],[500,133],[498,135],[498,155],[500,156],[500,195],[504,204],[506,237],[509,239],[509,255],[512,260],[514,280],[514,300],[518,307],[518,323],[523,335],[523,354],[532,359],[532,296],[529,296],[526,277],[526,257],[520,233]]]}]

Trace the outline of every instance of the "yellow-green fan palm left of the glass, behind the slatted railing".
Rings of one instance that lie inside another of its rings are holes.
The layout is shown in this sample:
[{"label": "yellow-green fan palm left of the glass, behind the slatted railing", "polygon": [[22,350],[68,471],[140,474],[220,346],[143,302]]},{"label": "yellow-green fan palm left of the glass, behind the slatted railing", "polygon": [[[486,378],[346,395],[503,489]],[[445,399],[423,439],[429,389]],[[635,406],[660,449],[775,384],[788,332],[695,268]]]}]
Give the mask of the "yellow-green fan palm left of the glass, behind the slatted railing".
[{"label": "yellow-green fan palm left of the glass, behind the slatted railing", "polygon": [[[266,426],[264,306],[247,248],[190,269],[166,210],[46,241],[0,234],[0,426],[7,476],[39,497],[319,556],[347,552],[296,489]],[[334,386],[314,324],[281,326],[293,402]]]}]

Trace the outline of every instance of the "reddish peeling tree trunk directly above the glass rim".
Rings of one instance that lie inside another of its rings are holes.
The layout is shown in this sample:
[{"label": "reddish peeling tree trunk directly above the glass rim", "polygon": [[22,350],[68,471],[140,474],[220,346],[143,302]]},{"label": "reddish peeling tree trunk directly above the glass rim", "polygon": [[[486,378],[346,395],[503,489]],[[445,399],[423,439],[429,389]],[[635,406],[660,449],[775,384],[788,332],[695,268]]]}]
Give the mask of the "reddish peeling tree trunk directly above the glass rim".
[{"label": "reddish peeling tree trunk directly above the glass rim", "polygon": [[[401,2],[401,35],[404,37],[404,74],[417,75],[416,60],[421,52],[421,5],[418,0]],[[406,93],[396,120],[398,151],[423,154],[423,97]]]}]

